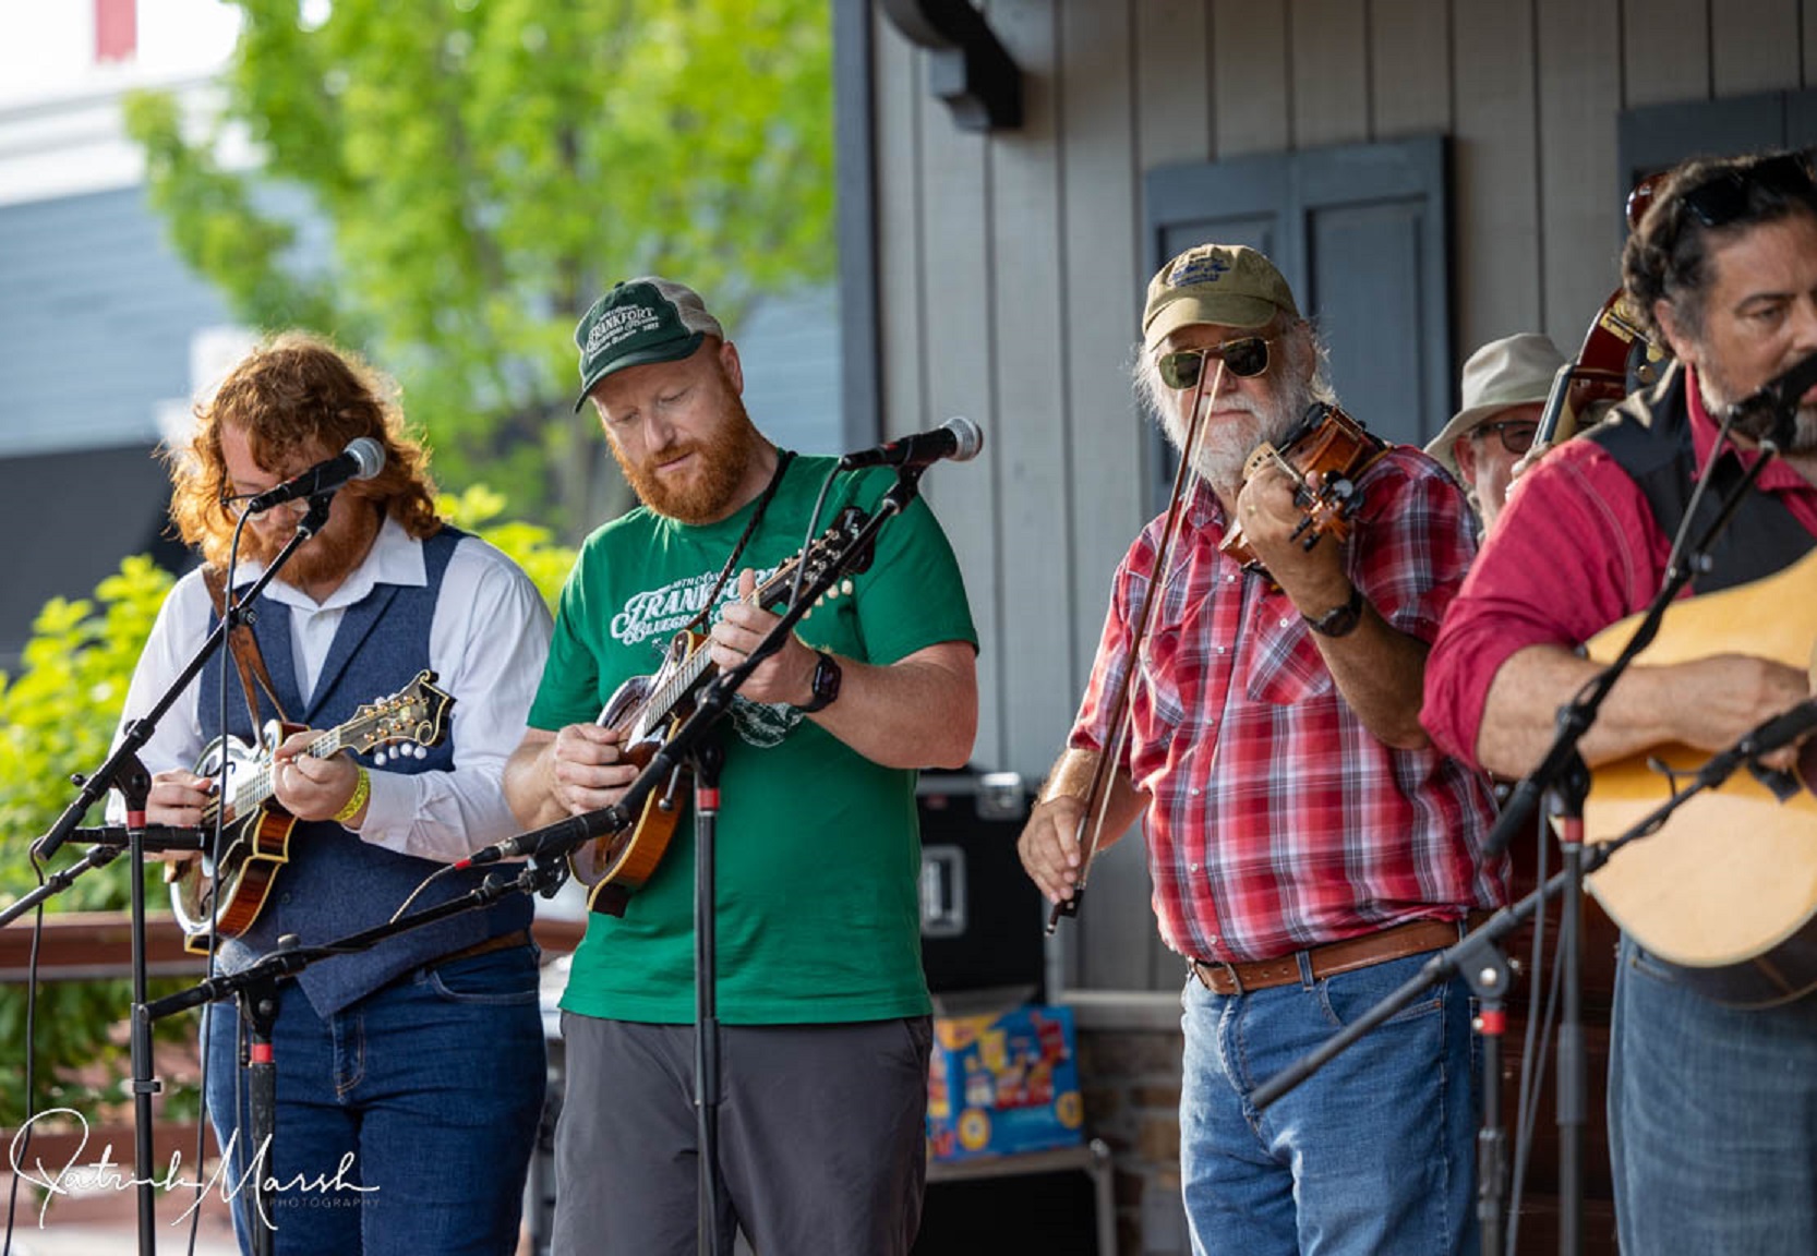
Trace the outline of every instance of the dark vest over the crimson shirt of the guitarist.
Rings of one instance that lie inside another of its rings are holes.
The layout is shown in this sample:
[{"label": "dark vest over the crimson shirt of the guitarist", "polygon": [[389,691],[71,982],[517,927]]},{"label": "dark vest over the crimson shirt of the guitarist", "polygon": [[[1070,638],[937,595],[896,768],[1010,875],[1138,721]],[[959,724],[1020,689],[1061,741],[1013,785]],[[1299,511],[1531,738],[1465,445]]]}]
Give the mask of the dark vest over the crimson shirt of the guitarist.
[{"label": "dark vest over the crimson shirt of the guitarist", "polygon": [[[1653,523],[1668,538],[1677,534],[1697,482],[1684,387],[1686,373],[1673,365],[1652,393],[1630,396],[1610,422],[1584,434],[1603,445],[1639,485],[1653,511]],[[1733,449],[1724,449],[1715,464],[1710,487],[1697,503],[1692,542],[1710,529],[1723,498],[1744,474]],[[1692,580],[1692,587],[1697,593],[1715,593],[1761,580],[1790,567],[1813,543],[1817,538],[1799,525],[1784,502],[1772,493],[1752,491],[1717,533],[1710,545],[1710,571]]]}]

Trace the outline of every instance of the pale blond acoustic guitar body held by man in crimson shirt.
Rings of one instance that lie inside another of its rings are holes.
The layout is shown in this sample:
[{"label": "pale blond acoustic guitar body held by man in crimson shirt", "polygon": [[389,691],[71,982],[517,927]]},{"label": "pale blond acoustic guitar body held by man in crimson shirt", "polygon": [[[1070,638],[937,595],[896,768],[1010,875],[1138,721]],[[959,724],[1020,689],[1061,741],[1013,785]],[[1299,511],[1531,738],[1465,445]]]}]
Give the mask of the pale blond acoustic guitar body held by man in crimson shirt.
[{"label": "pale blond acoustic guitar body held by man in crimson shirt", "polygon": [[[1635,618],[1588,645],[1606,663]],[[1812,667],[1817,640],[1817,551],[1753,583],[1675,602],[1635,660],[1681,663],[1743,653]],[[1584,802],[1584,842],[1621,836],[1672,796],[1657,760],[1693,774],[1710,754],[1655,747],[1597,767]],[[1802,789],[1779,798],[1739,771],[1672,812],[1666,825],[1619,851],[1590,876],[1590,892],[1626,932],[1683,980],[1724,1003],[1764,1007],[1817,989],[1817,745],[1806,745]]]}]

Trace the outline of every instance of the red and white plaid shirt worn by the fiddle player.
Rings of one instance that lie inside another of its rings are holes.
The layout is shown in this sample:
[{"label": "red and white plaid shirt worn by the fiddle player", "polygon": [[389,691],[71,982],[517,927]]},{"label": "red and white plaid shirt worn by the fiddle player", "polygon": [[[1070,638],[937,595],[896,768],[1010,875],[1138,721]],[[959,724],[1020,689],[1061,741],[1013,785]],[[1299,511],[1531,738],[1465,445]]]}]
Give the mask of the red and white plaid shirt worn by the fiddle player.
[{"label": "red and white plaid shirt worn by the fiddle player", "polygon": [[[1350,580],[1388,623],[1430,642],[1475,554],[1463,494],[1408,447],[1357,487]],[[1143,827],[1163,942],[1201,960],[1272,960],[1504,902],[1504,871],[1481,860],[1486,778],[1365,729],[1292,600],[1219,553],[1217,496],[1199,483],[1185,511],[1123,758],[1152,796]],[[1148,523],[1117,567],[1074,747],[1108,743],[1163,525]]]}]

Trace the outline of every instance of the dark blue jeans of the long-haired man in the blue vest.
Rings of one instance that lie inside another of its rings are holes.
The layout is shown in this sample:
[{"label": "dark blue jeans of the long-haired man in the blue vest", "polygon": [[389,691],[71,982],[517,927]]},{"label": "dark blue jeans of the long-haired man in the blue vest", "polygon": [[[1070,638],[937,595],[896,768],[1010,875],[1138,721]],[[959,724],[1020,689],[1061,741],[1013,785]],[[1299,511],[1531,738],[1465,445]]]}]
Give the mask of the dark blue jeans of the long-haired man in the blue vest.
[{"label": "dark blue jeans of the long-haired man in the blue vest", "polygon": [[[280,989],[263,1165],[285,1187],[269,1218],[280,1256],[516,1251],[545,1085],[536,949],[418,969],[325,1020],[302,989]],[[222,1147],[247,1112],[236,1020],[231,1003],[211,1009],[207,1100]],[[223,1189],[254,1167],[242,1127]],[[263,1223],[251,1180],[233,1211],[251,1251],[249,1225]]]}]

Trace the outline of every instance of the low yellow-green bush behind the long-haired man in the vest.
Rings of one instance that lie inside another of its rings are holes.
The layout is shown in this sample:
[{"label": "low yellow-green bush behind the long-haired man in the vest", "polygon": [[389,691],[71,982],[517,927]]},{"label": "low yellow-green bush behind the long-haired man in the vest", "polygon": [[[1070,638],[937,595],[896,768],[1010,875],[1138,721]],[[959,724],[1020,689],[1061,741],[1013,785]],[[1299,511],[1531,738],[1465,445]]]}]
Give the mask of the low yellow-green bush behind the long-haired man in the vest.
[{"label": "low yellow-green bush behind the long-haired man in the vest", "polygon": [[[443,518],[511,554],[554,607],[574,553],[554,543],[549,529],[509,520],[505,498],[483,485],[460,496],[443,494],[438,507]],[[38,885],[29,847],[74,798],[69,774],[94,771],[107,758],[133,665],[171,585],[173,576],[151,558],[127,558],[118,573],[96,585],[93,600],[45,603],[33,623],[24,669],[16,678],[0,673],[0,905],[18,902]],[[84,823],[102,823],[102,818],[96,805]],[[80,851],[69,843],[53,862],[73,863]],[[129,878],[127,860],[116,858],[78,876],[45,903],[45,911],[124,911]],[[169,911],[158,865],[145,874],[145,903],[153,912]],[[29,918],[9,929],[29,929]],[[122,954],[120,963],[127,958]],[[164,983],[162,989],[174,987]],[[129,1007],[131,987],[124,980],[40,987],[36,1111],[94,1112],[100,1103],[120,1100],[114,1083],[129,1069]],[[160,1032],[187,1029],[171,1025]],[[0,1071],[0,1129],[13,1127],[27,1109],[25,1043],[25,991],[0,987],[0,1060],[16,1062]]]}]

